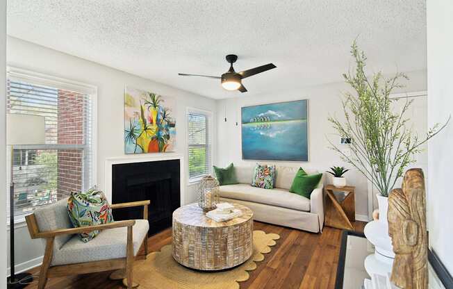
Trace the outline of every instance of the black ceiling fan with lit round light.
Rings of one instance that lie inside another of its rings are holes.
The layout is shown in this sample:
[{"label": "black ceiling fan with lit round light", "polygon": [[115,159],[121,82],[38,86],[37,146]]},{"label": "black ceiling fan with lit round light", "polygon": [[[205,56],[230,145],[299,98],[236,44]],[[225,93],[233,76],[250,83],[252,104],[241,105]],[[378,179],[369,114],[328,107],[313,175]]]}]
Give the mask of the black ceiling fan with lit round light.
[{"label": "black ceiling fan with lit round light", "polygon": [[242,85],[242,79],[246,77],[265,72],[266,70],[276,68],[277,66],[272,63],[261,65],[252,69],[247,69],[242,72],[235,72],[233,68],[233,63],[238,60],[238,56],[234,54],[227,55],[227,61],[230,64],[230,69],[227,72],[222,74],[222,76],[209,76],[209,75],[199,75],[199,74],[186,74],[179,73],[181,76],[199,76],[199,77],[208,77],[209,79],[220,79],[222,87],[226,90],[239,90],[240,92],[247,92],[247,89]]}]

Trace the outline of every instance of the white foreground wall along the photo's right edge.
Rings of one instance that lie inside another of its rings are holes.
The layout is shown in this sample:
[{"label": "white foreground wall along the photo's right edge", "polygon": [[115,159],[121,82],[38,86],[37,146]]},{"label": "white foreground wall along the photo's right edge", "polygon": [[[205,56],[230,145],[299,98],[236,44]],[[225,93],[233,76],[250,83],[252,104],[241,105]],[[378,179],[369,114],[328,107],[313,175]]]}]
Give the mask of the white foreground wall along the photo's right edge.
[{"label": "white foreground wall along the photo's right edge", "polygon": [[[453,115],[453,1],[427,1],[428,122]],[[429,245],[453,274],[453,121],[428,146]]]}]

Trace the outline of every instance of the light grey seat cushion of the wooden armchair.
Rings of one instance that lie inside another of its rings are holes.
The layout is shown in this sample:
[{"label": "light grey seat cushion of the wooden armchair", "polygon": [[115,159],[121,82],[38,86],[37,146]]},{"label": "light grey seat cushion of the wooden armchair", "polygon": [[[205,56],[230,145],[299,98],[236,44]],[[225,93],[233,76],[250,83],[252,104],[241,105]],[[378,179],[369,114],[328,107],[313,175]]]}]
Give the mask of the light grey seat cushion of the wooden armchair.
[{"label": "light grey seat cushion of the wooden armchair", "polygon": [[[135,220],[133,255],[136,256],[149,229],[148,220]],[[90,242],[72,236],[60,249],[53,251],[51,266],[126,258],[127,227],[106,229]]]}]

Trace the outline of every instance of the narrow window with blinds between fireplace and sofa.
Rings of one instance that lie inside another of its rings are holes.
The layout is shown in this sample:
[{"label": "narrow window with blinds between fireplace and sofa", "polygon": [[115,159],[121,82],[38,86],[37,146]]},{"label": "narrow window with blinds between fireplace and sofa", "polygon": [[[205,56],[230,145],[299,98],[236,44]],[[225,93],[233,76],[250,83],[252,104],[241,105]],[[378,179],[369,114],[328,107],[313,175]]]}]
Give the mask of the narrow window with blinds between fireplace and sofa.
[{"label": "narrow window with blinds between fireplace and sofa", "polygon": [[211,113],[188,110],[189,181],[211,172]]}]

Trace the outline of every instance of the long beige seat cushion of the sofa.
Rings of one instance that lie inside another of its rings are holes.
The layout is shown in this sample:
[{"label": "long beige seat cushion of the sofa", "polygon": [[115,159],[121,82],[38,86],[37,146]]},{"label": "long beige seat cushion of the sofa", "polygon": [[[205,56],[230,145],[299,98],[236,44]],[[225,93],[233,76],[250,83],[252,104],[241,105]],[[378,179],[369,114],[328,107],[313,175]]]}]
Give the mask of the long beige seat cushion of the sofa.
[{"label": "long beige seat cushion of the sofa", "polygon": [[239,183],[237,185],[221,185],[220,197],[253,201],[256,203],[291,208],[293,210],[310,211],[310,200],[306,197],[293,194],[285,189],[266,190],[255,188],[252,185]]}]

